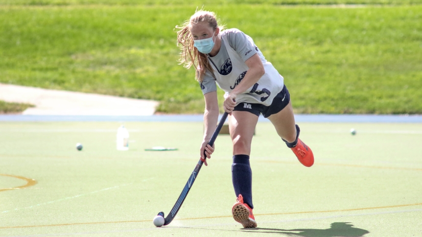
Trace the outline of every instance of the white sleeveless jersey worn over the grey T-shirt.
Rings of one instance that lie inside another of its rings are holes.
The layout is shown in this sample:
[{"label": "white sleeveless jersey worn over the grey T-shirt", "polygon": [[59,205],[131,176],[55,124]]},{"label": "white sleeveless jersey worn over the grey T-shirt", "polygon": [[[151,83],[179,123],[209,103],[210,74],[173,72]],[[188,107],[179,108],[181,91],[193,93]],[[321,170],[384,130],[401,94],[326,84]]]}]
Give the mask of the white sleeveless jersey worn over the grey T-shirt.
[{"label": "white sleeveless jersey worn over the grey T-shirt", "polygon": [[[247,38],[252,45],[255,45],[251,37],[247,36]],[[245,64],[240,55],[229,45],[224,32],[221,34],[221,40],[224,41],[224,45],[232,61],[232,71],[228,75],[221,75],[210,59],[208,60],[213,68],[216,83],[222,90],[226,91],[224,97],[227,98],[229,92],[231,92],[245,77],[249,67]],[[254,86],[247,89],[244,93],[237,95],[236,105],[246,102],[270,106],[274,97],[284,86],[283,77],[279,74],[277,69],[274,68],[270,62],[265,60],[257,46],[255,46],[255,49],[264,65],[265,74]]]}]

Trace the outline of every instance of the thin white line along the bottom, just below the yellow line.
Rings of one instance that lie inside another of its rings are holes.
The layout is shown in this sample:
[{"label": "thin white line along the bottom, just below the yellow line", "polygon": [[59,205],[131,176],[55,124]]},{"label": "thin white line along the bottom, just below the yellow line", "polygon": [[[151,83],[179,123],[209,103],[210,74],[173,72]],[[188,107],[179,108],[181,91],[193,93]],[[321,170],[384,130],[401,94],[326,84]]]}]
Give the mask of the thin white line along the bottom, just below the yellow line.
[{"label": "thin white line along the bottom, just below the yellow line", "polygon": [[[285,223],[285,222],[300,222],[300,221],[311,221],[311,220],[322,220],[322,219],[331,219],[331,218],[344,218],[344,217],[354,217],[354,216],[367,216],[367,215],[386,215],[386,214],[400,214],[400,213],[410,213],[410,212],[422,212],[422,209],[412,209],[412,210],[398,210],[398,211],[389,211],[389,212],[376,212],[376,213],[363,213],[363,214],[351,214],[351,215],[328,215],[328,216],[321,216],[321,217],[311,217],[311,218],[300,218],[300,219],[284,219],[278,221],[263,221],[258,222],[260,224],[263,223]],[[180,221],[180,220],[179,220]],[[198,220],[195,220],[198,221]],[[219,229],[212,229],[206,227],[218,227],[218,226],[233,226],[235,225],[234,221],[232,223],[225,223],[225,224],[213,224],[213,225],[193,225],[193,226],[175,226],[175,227],[164,227],[164,228],[183,228],[183,229],[204,229],[210,231],[227,231],[227,232],[250,232],[255,233],[253,230],[219,230]],[[77,236],[77,235],[90,235],[90,234],[109,234],[109,233],[128,233],[128,232],[141,232],[147,230],[157,230],[160,231],[159,228],[142,228],[142,229],[131,229],[131,230],[115,230],[115,231],[97,231],[97,232],[75,232],[75,233],[60,233],[60,234],[46,234],[46,235],[26,235],[26,236],[9,236],[9,237],[47,237],[47,236]],[[274,231],[273,231],[274,232]],[[273,233],[269,232],[269,233]]]}]

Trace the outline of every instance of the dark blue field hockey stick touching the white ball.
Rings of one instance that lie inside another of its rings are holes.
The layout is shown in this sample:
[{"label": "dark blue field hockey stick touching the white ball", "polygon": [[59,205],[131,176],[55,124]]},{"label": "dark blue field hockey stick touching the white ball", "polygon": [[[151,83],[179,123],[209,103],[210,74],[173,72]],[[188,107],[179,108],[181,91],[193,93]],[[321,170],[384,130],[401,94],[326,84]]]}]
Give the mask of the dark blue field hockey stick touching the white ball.
[{"label": "dark blue field hockey stick touching the white ball", "polygon": [[[217,128],[215,129],[214,133],[212,134],[211,140],[208,142],[208,145],[210,145],[211,147],[214,144],[214,141],[217,138],[217,135],[220,132],[221,127],[223,127],[224,122],[226,122],[227,115],[229,115],[229,114],[227,112],[224,112],[223,117],[221,117]],[[205,155],[205,151],[204,151],[204,155]],[[205,155],[205,158],[207,158],[206,155]],[[196,176],[198,175],[199,171],[201,170],[202,164],[204,164],[204,162],[201,159],[199,159],[198,164],[196,164],[195,169],[193,170],[192,174],[190,174],[190,177],[188,179],[188,182],[185,185],[185,188],[183,188],[182,193],[180,194],[179,198],[177,198],[176,204],[174,204],[170,213],[164,218],[164,225],[170,224],[170,222],[173,220],[174,216],[176,216],[177,212],[179,211],[180,207],[183,204],[183,201],[185,201],[185,198],[188,195],[189,190],[192,187]],[[164,212],[160,212],[158,215],[161,215],[161,216],[164,217]]]}]

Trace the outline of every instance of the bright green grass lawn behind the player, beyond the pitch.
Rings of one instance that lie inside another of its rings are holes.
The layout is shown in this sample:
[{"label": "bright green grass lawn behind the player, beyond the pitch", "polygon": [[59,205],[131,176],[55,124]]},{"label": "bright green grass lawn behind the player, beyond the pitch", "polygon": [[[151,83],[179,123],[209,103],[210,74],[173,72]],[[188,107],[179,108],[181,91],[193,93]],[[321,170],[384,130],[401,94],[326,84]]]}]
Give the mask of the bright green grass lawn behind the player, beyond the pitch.
[{"label": "bright green grass lawn behind the player, beyond the pitch", "polygon": [[[193,69],[177,63],[174,33],[198,4],[113,2],[0,0],[0,82],[155,99],[159,112],[201,113],[202,93]],[[271,2],[380,4],[206,5],[255,40],[284,77],[296,112],[422,113],[420,0]]]}]

